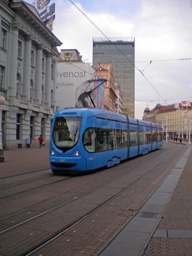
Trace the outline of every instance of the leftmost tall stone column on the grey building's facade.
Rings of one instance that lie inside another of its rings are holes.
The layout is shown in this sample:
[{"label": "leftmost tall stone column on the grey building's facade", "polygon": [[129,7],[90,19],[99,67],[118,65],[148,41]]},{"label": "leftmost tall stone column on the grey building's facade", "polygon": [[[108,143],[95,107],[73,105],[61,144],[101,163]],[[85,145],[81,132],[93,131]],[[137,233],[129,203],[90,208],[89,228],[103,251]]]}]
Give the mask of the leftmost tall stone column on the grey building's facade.
[{"label": "leftmost tall stone column on the grey building's facade", "polygon": [[16,78],[17,78],[17,55],[18,55],[18,28],[12,27],[11,35],[11,54],[10,54],[10,82],[9,82],[9,96],[16,97]]}]

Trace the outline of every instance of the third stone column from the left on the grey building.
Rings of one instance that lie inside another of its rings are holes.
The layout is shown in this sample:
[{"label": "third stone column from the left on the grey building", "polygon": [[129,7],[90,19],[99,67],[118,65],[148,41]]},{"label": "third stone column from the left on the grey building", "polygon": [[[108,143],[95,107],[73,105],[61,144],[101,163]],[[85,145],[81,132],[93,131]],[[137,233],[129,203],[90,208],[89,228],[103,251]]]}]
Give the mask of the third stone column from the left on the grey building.
[{"label": "third stone column from the left on the grey building", "polygon": [[36,98],[39,100],[39,105],[41,105],[41,85],[42,85],[42,53],[43,49],[38,46],[36,49],[36,75],[35,75],[35,89]]}]

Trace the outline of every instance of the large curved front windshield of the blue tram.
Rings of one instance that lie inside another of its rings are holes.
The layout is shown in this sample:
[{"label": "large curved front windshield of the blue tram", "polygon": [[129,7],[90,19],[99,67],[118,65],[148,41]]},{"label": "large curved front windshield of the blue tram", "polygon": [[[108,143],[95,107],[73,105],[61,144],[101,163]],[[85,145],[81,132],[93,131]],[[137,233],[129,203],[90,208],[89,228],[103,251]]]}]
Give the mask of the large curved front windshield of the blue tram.
[{"label": "large curved front windshield of the blue tram", "polygon": [[75,146],[79,139],[81,122],[81,116],[56,117],[53,141],[57,148],[66,152]]}]

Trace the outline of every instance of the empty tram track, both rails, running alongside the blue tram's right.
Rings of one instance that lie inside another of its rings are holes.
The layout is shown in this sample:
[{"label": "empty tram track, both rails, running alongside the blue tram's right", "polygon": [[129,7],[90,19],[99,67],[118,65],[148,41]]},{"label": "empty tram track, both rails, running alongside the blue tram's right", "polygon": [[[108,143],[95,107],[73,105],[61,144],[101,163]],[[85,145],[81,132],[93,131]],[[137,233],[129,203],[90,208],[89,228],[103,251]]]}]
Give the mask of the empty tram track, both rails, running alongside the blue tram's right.
[{"label": "empty tram track, both rails, running alongside the blue tram's right", "polygon": [[[164,152],[164,153],[161,154],[161,155],[164,155],[164,154],[167,154],[167,151]],[[161,161],[160,163],[156,164],[156,165],[155,165],[153,168],[151,168],[148,172],[144,173],[141,177],[135,179],[135,180],[134,180],[133,182],[131,182],[128,186],[126,186],[125,188],[121,189],[121,191],[119,191],[118,193],[116,193],[116,194],[114,194],[113,196],[109,197],[107,200],[105,200],[104,202],[102,202],[101,204],[99,204],[97,207],[94,207],[94,208],[91,209],[90,211],[85,212],[85,213],[83,214],[83,217],[76,218],[76,220],[72,221],[71,223],[69,223],[69,224],[66,225],[65,227],[61,228],[59,231],[55,232],[54,235],[48,237],[47,239],[44,239],[44,241],[42,241],[41,243],[37,244],[36,246],[34,246],[33,248],[31,248],[31,249],[28,250],[27,252],[23,253],[22,255],[23,255],[23,256],[24,256],[24,255],[31,255],[33,252],[39,250],[40,248],[42,248],[42,247],[45,246],[46,244],[50,243],[52,240],[56,239],[58,236],[60,236],[60,235],[62,235],[63,233],[67,232],[70,228],[74,227],[76,224],[78,224],[79,222],[81,222],[82,220],[84,220],[85,218],[87,218],[88,216],[90,216],[91,214],[93,214],[95,211],[97,211],[98,209],[100,209],[102,206],[108,204],[111,200],[113,200],[114,198],[116,198],[117,196],[119,196],[119,195],[120,195],[121,193],[123,193],[125,190],[127,190],[128,188],[130,188],[131,186],[133,186],[134,184],[136,184],[139,180],[143,179],[143,178],[146,177],[148,174],[150,174],[151,172],[153,172],[153,171],[154,171],[156,168],[158,168],[161,164],[163,164],[165,161],[167,161],[168,159],[170,159],[170,157],[172,157],[174,154],[175,154],[175,151],[174,151],[170,156],[166,157],[163,161]],[[160,156],[160,155],[158,155],[157,157],[159,157],[159,156]],[[156,159],[157,157],[153,158],[153,160]],[[29,222],[29,221],[31,221],[31,220],[35,220],[35,219],[37,219],[38,217],[41,217],[41,216],[43,216],[43,215],[46,214],[46,213],[52,212],[52,211],[54,211],[54,210],[57,210],[58,208],[60,208],[60,207],[62,207],[62,206],[64,206],[64,205],[66,205],[66,204],[68,204],[68,203],[70,203],[70,202],[72,202],[72,201],[74,201],[74,200],[76,200],[76,199],[78,199],[78,198],[80,198],[80,197],[82,197],[82,196],[85,196],[85,195],[87,195],[88,193],[91,193],[91,192],[93,192],[94,190],[97,190],[98,188],[101,188],[102,186],[104,186],[104,185],[106,185],[106,184],[108,184],[108,183],[110,183],[110,182],[112,182],[112,181],[114,181],[114,180],[117,180],[117,179],[123,177],[123,176],[125,176],[126,174],[129,174],[130,172],[133,172],[134,170],[136,170],[136,169],[138,169],[138,168],[140,168],[140,167],[142,167],[143,165],[148,164],[148,163],[150,163],[150,161],[145,162],[144,164],[140,165],[139,167],[136,167],[136,168],[130,170],[129,172],[126,172],[126,173],[124,173],[124,174],[122,174],[122,175],[119,175],[118,177],[116,177],[116,178],[114,178],[114,179],[112,179],[112,180],[109,180],[108,182],[105,182],[105,183],[103,183],[103,184],[97,186],[96,188],[92,188],[91,190],[89,190],[89,191],[87,191],[87,192],[85,192],[85,193],[83,193],[83,194],[81,194],[81,195],[79,195],[79,196],[77,196],[77,197],[75,197],[75,198],[72,198],[71,200],[68,200],[68,201],[66,201],[66,202],[63,202],[62,204],[59,204],[59,205],[57,205],[57,206],[55,206],[55,207],[52,207],[52,208],[50,208],[50,209],[48,209],[48,210],[46,210],[46,211],[44,211],[44,212],[41,212],[40,214],[37,214],[36,216],[33,216],[32,218],[26,219],[26,220],[24,220],[24,221],[22,221],[22,222],[20,222],[20,223],[17,223],[17,224],[15,224],[15,225],[13,225],[13,226],[11,226],[11,227],[9,227],[9,228],[6,228],[6,229],[2,230],[2,231],[0,232],[0,234],[3,235],[5,232],[8,232],[8,234],[9,234],[9,232],[11,232],[11,230],[14,230],[14,228],[17,228],[17,227],[19,228],[21,225],[24,225],[24,224],[26,224],[27,222]],[[56,215],[56,216],[57,216],[57,215]],[[27,227],[25,227],[25,229],[26,229],[26,228],[27,228]]]}]

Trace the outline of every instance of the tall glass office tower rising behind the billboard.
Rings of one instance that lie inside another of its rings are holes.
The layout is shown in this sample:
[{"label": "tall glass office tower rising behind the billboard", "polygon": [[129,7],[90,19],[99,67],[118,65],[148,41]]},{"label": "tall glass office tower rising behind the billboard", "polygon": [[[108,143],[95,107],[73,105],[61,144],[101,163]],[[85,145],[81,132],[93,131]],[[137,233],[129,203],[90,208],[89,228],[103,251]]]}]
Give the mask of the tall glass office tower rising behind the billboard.
[{"label": "tall glass office tower rising behind the billboard", "polygon": [[93,67],[97,68],[99,63],[112,64],[115,83],[120,85],[123,94],[123,115],[134,117],[135,38],[109,37],[109,40],[93,38]]}]

